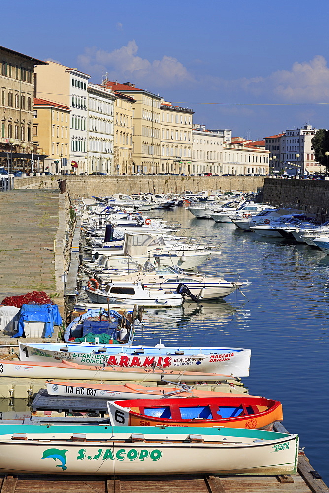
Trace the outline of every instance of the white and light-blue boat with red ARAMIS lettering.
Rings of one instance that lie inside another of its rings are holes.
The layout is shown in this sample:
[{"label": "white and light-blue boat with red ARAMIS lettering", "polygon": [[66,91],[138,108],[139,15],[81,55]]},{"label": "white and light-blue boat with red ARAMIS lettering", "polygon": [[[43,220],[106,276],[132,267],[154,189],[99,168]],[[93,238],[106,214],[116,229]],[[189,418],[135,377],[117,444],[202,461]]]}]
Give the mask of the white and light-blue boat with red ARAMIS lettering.
[{"label": "white and light-blue boat with red ARAMIS lettering", "polygon": [[23,343],[19,341],[21,361],[66,360],[79,365],[105,365],[115,368],[155,367],[193,372],[225,373],[238,377],[249,375],[251,350],[244,348],[193,348],[156,346],[122,346],[57,343]]}]

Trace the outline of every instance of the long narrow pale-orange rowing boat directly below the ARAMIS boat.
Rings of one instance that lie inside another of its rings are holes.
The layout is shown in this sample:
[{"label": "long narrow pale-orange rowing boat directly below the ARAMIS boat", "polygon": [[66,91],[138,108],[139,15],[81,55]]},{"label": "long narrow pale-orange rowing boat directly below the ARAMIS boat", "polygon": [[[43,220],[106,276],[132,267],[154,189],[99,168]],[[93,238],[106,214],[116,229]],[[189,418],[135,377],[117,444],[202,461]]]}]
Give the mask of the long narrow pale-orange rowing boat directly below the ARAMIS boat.
[{"label": "long narrow pale-orange rowing boat directly below the ARAMIS boat", "polygon": [[230,375],[204,372],[184,372],[160,368],[120,368],[111,366],[81,366],[69,361],[40,363],[38,361],[4,361],[0,363],[0,377],[44,378],[73,380],[127,380],[160,382],[216,382],[231,380]]}]

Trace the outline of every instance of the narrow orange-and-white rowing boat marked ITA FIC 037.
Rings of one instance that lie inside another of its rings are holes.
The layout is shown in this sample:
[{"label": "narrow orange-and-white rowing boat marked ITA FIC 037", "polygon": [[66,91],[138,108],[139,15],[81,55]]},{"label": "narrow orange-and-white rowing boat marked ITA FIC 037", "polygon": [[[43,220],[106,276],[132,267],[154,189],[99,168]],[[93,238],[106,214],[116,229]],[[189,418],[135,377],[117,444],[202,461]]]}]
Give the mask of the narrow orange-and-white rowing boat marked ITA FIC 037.
[{"label": "narrow orange-and-white rowing boat marked ITA FIC 037", "polygon": [[[81,397],[81,398],[96,398],[96,399],[162,399],[167,397],[227,397],[226,392],[211,392],[200,388],[182,387],[146,387],[135,383],[127,382],[125,385],[108,385],[94,384],[93,382],[46,382],[48,395],[57,395],[59,397]],[[238,397],[240,386],[235,387],[230,384],[230,396]],[[242,393],[240,391],[240,393]]]}]

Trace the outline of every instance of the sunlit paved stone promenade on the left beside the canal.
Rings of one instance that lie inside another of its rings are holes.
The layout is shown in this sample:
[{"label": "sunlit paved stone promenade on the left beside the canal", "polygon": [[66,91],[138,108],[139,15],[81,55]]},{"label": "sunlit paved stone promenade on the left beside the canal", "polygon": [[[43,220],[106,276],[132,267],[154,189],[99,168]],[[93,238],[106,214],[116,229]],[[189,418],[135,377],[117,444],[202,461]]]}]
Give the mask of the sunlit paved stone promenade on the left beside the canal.
[{"label": "sunlit paved stone promenade on the left beside the canal", "polygon": [[59,190],[0,193],[0,302],[30,291],[55,292],[58,195]]}]

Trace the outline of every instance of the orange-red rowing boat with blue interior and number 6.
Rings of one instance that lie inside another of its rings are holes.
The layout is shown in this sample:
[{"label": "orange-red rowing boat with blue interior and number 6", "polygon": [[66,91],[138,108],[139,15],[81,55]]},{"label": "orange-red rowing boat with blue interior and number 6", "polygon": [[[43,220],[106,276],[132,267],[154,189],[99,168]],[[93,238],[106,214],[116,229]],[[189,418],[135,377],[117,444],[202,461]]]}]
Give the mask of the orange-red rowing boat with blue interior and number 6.
[{"label": "orange-red rowing boat with blue interior and number 6", "polygon": [[107,402],[115,426],[224,426],[265,429],[282,421],[282,405],[265,397],[187,397]]}]

